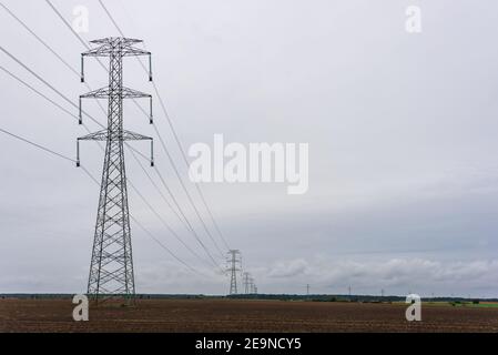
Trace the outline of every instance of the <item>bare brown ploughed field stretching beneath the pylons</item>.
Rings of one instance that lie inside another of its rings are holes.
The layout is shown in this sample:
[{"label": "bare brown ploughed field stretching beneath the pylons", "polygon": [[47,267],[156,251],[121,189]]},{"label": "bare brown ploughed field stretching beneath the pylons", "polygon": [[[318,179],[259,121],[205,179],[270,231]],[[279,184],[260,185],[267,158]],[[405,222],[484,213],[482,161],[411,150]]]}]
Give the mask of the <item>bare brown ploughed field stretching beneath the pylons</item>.
[{"label": "bare brown ploughed field stretching beneath the pylons", "polygon": [[403,304],[148,300],[90,307],[72,320],[71,300],[0,300],[0,332],[498,332],[498,308],[423,305],[408,323]]}]

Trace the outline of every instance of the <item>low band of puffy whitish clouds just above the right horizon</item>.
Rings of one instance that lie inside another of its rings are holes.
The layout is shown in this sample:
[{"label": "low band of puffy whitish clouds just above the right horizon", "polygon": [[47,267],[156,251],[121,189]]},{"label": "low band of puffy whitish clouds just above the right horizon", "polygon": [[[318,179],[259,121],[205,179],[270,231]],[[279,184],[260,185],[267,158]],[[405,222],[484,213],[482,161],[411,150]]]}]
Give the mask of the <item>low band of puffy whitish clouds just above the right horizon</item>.
[{"label": "low band of puffy whitish clouds just above the right horizon", "polygon": [[[265,276],[266,275],[266,276]],[[357,293],[408,292],[430,295],[495,296],[498,293],[498,260],[440,262],[427,258],[386,261],[280,261],[257,271],[264,286],[272,290],[311,283],[317,293],[345,293],[352,285]],[[275,285],[275,278],[280,278]],[[287,290],[287,292],[292,292]],[[301,292],[303,292],[301,290]]]}]

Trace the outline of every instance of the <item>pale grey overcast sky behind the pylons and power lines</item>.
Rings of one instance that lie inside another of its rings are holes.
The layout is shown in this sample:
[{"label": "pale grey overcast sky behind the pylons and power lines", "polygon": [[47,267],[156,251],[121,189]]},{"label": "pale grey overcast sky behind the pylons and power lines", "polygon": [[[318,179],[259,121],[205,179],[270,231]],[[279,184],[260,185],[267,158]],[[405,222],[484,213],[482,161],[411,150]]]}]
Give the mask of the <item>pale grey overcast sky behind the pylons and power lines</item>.
[{"label": "pale grey overcast sky behind the pylons and power lines", "polygon": [[[2,0],[79,69],[81,43],[42,0]],[[85,40],[119,33],[96,0],[53,0]],[[106,0],[126,36],[153,52],[154,79],[185,149],[227,142],[309,143],[309,191],[284,184],[202,184],[228,244],[261,293],[498,296],[498,24],[495,0]],[[423,32],[405,30],[419,6]],[[77,102],[87,88],[0,8],[1,45]],[[77,110],[0,52],[0,64]],[[93,88],[105,72],[89,60]],[[125,85],[153,92],[134,60]],[[74,156],[73,118],[0,71],[1,128]],[[88,102],[88,111],[105,118]],[[125,104],[125,126],[153,135]],[[155,101],[157,129],[186,168]],[[91,130],[99,130],[88,122]],[[0,293],[85,291],[98,186],[68,161],[0,135]],[[148,154],[145,143],[134,146]],[[102,153],[82,145],[98,176]],[[157,144],[156,165],[195,223]],[[202,250],[128,154],[128,176],[192,248]],[[153,170],[154,181],[160,184]],[[100,178],[99,178],[100,179]],[[187,186],[203,216],[194,186]],[[131,213],[140,293],[225,294],[226,276],[193,257],[140,197]],[[212,229],[212,225],[210,224]],[[214,229],[213,233],[214,233]]]}]

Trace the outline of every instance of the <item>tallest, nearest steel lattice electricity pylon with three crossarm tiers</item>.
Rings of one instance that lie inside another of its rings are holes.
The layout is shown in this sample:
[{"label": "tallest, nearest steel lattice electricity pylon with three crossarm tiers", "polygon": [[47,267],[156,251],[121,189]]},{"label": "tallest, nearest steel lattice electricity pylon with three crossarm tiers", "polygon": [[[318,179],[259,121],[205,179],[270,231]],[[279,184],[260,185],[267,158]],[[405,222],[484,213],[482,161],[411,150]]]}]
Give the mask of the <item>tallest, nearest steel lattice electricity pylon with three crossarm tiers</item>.
[{"label": "tallest, nearest steel lattice electricity pylon with three crossarm tiers", "polygon": [[[81,55],[81,82],[84,82],[84,58],[109,57],[109,87],[80,97],[80,124],[82,124],[82,99],[108,99],[108,126],[96,133],[78,139],[77,165],[80,166],[80,141],[104,141],[105,155],[99,211],[90,264],[88,294],[96,302],[99,297],[119,296],[134,301],[135,283],[128,204],[126,172],[124,168],[125,141],[151,141],[151,165],[153,166],[152,138],[123,129],[123,99],[152,97],[123,87],[123,58],[149,55],[152,81],[151,52],[134,48],[141,40],[106,38],[92,41],[96,48]],[[151,103],[152,123],[152,103]]]}]

